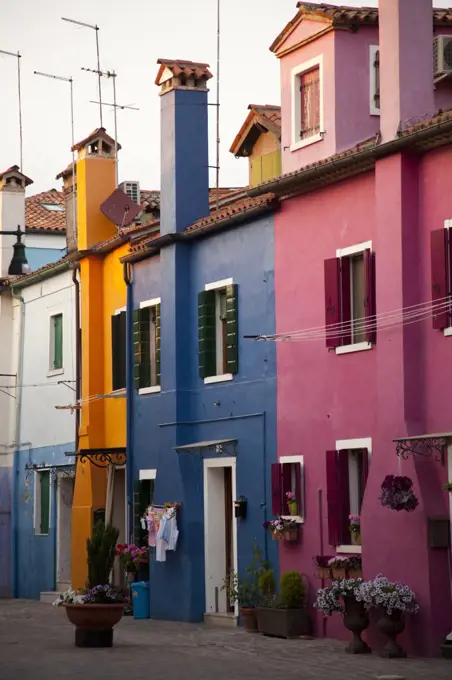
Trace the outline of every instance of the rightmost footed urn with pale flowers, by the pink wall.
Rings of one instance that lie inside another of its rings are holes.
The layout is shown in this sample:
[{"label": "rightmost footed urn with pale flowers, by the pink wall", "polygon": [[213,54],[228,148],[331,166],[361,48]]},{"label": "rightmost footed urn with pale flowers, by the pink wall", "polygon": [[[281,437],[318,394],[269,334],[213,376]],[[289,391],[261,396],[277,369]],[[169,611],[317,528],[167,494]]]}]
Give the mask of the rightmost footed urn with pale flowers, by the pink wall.
[{"label": "rightmost footed urn with pale flowers, by the pink wall", "polygon": [[388,638],[380,656],[387,659],[406,657],[406,652],[396,638],[405,630],[405,614],[416,614],[419,611],[414,592],[409,586],[392,583],[379,574],[372,581],[364,583],[362,597],[367,607],[375,607],[379,611],[377,626]]}]

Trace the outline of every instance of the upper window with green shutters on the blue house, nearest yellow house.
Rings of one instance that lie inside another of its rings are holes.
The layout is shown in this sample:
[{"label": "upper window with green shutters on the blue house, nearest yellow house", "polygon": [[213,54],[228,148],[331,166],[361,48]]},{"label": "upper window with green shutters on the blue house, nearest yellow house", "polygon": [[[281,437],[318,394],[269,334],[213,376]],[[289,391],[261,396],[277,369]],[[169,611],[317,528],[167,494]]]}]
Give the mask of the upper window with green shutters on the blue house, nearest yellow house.
[{"label": "upper window with green shutters on the blue house, nearest yellow house", "polygon": [[134,311],[133,355],[135,388],[160,391],[160,298],[142,302]]}]

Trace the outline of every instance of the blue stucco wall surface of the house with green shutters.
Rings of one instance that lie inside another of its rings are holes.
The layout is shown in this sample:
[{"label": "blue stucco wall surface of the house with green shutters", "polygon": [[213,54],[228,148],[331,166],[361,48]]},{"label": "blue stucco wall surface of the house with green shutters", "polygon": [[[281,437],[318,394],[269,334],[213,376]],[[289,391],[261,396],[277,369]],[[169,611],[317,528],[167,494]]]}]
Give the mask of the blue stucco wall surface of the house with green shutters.
[{"label": "blue stucco wall surface of the house with green shutters", "polygon": [[[152,616],[197,621],[205,612],[202,456],[177,454],[176,444],[238,440],[237,495],[248,499],[248,517],[238,522],[239,571],[251,560],[254,541],[278,566],[275,543],[262,527],[270,513],[270,465],[276,460],[275,348],[243,337],[274,328],[273,216],[184,247],[179,285],[186,307],[176,336],[171,321],[165,322],[165,308],[175,295],[165,267],[170,249],[134,266],[134,307],[161,297],[162,391],[135,393],[133,456],[135,479],[139,469],[157,470],[155,502],[182,502],[177,551],[166,563],[151,564]],[[198,292],[229,277],[239,286],[239,372],[230,382],[205,385],[198,375]],[[184,364],[176,374],[165,371],[175,351]]]}]

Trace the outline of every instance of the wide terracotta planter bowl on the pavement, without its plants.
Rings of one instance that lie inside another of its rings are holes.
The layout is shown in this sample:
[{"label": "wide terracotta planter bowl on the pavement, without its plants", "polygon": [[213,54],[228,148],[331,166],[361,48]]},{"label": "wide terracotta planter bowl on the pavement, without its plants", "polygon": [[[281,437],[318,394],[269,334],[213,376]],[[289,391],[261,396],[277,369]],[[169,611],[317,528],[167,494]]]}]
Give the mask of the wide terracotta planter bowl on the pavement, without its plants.
[{"label": "wide terracotta planter bowl on the pavement, without its plants", "polygon": [[65,604],[75,626],[76,647],[112,647],[113,626],[122,618],[123,604]]}]

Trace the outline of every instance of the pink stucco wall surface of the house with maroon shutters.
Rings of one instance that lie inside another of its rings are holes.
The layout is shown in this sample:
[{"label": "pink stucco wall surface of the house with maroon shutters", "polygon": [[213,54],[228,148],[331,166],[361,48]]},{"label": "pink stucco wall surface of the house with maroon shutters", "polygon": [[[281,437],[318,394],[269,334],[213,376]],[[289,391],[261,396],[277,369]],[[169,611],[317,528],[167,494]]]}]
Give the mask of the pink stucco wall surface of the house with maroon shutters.
[{"label": "pink stucco wall surface of the house with maroon shutters", "polygon": [[[275,218],[277,331],[322,327],[324,260],[337,248],[368,240],[376,257],[377,313],[428,301],[430,232],[450,216],[445,177],[451,159],[450,150],[420,161],[389,157],[375,172],[283,203]],[[293,304],[295,296],[301,304]],[[313,588],[318,585],[312,558],[321,554],[321,528],[324,554],[335,551],[328,545],[325,452],[337,440],[371,437],[361,514],[364,578],[383,572],[415,590],[421,612],[409,622],[405,643],[418,654],[438,653],[452,615],[447,551],[428,547],[426,528],[426,516],[449,515],[441,491],[447,475],[431,460],[402,461],[399,468],[392,440],[452,430],[451,352],[451,338],[434,330],[431,320],[382,330],[370,351],[352,354],[329,352],[324,339],[277,345],[278,454],[303,453],[306,482],[303,543],[281,548],[281,570],[297,568]],[[415,483],[420,506],[412,514],[378,502],[384,476],[398,470]],[[320,618],[316,623],[320,632]],[[334,617],[327,634],[343,634]]]}]

